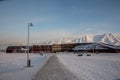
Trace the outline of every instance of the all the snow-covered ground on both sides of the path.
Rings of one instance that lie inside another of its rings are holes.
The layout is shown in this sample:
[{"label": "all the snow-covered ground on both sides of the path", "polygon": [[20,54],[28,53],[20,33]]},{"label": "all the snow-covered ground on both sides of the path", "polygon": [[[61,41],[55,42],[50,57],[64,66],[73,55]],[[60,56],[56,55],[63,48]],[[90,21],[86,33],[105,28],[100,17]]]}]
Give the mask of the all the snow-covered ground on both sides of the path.
[{"label": "all the snow-covered ground on both sides of the path", "polygon": [[[120,54],[99,53],[77,56],[56,54],[64,66],[79,80],[120,80]],[[30,54],[32,67],[26,67],[26,54],[0,53],[0,80],[32,80],[50,55]],[[56,73],[57,74],[57,73]]]}]

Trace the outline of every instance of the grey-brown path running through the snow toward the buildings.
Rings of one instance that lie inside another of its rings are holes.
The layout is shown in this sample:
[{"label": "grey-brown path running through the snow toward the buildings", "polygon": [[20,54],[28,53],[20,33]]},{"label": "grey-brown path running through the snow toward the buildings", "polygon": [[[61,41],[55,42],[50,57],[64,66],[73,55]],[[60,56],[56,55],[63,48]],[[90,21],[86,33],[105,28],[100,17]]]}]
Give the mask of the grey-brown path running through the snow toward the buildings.
[{"label": "grey-brown path running through the snow toward the buildings", "polygon": [[51,56],[48,62],[37,73],[33,80],[78,80],[77,77],[70,72],[59,61],[57,56]]}]

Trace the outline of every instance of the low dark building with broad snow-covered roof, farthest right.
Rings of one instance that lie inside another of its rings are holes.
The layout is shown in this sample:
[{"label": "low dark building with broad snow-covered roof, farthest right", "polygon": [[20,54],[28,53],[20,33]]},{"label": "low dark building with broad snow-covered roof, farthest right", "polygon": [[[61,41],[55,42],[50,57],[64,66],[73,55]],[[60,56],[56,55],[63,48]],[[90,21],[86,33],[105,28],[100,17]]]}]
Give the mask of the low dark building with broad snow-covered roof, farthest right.
[{"label": "low dark building with broad snow-covered roof, farthest right", "polygon": [[75,52],[92,52],[92,53],[119,53],[120,46],[109,45],[105,43],[86,43],[73,48]]}]

